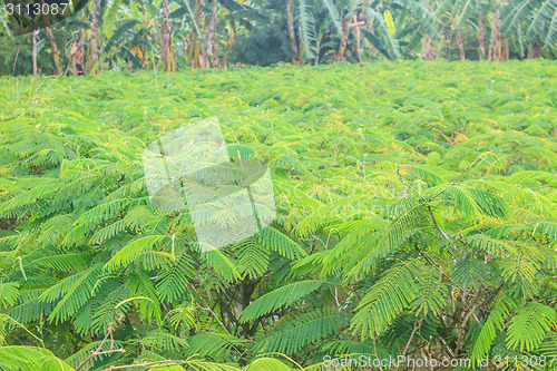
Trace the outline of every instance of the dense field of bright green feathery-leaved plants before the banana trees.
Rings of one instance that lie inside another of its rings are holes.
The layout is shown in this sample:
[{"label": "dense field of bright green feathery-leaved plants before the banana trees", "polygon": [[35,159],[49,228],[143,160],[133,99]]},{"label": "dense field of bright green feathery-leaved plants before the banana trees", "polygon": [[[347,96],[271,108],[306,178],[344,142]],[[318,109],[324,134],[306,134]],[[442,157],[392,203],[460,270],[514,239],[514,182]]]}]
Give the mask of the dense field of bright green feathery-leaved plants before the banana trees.
[{"label": "dense field of bright green feathery-leaved plants before the banana trees", "polygon": [[[0,370],[97,348],[80,370],[557,370],[556,78],[547,60],[1,77]],[[150,206],[140,154],[209,117],[232,157],[268,163],[278,215],[202,254],[187,213]]]}]

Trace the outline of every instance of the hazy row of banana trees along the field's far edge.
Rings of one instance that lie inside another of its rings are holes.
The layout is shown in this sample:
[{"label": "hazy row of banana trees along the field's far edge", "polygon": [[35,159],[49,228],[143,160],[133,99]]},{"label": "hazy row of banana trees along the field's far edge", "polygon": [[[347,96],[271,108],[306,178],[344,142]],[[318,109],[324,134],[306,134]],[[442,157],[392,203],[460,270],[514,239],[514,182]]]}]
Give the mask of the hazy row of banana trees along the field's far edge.
[{"label": "hazy row of banana trees along the field's far edge", "polygon": [[[0,17],[3,9],[0,8]],[[555,59],[555,0],[91,0],[68,20],[13,37],[0,74],[362,62]],[[33,47],[35,39],[35,47]],[[35,50],[35,51],[32,51]],[[18,58],[17,55],[19,52]]]}]

